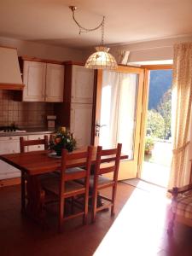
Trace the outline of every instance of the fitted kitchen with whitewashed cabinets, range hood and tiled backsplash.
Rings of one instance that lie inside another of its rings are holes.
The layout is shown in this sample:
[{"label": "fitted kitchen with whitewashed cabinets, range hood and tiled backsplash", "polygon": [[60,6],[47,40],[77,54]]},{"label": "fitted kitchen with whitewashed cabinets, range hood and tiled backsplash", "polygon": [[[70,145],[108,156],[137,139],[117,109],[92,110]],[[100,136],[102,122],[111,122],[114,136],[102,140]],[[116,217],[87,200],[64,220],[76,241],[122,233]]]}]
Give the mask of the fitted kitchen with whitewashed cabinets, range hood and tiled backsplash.
[{"label": "fitted kitchen with whitewashed cabinets, range hood and tiled backsplash", "polygon": [[[79,147],[90,144],[94,71],[72,61],[18,58],[13,48],[1,47],[0,54],[0,154],[20,152],[20,136],[43,138],[59,126],[74,133]],[[19,170],[0,164],[0,186],[20,183]]]}]

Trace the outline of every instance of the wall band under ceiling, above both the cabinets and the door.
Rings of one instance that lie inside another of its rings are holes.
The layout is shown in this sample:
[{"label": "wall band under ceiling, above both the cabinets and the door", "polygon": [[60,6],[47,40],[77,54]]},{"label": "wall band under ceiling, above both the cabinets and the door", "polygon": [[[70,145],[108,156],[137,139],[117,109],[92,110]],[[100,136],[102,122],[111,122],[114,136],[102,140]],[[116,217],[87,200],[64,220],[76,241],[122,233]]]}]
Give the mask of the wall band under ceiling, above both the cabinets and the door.
[{"label": "wall band under ceiling, above both the cabinets and the door", "polygon": [[[173,44],[182,42],[192,42],[192,36],[111,46],[110,53],[118,60],[120,50],[129,50],[129,62],[172,60]],[[95,51],[94,48],[80,50],[1,37],[0,45],[17,48],[19,56],[28,55],[55,61],[86,61]]]}]

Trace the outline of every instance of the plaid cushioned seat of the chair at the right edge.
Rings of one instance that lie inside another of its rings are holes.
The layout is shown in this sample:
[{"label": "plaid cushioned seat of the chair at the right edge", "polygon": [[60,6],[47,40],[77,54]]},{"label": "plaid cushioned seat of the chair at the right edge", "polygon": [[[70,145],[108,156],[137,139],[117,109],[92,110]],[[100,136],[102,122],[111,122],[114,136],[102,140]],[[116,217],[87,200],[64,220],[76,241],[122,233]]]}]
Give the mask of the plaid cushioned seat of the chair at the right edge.
[{"label": "plaid cushioned seat of the chair at the right edge", "polygon": [[172,212],[184,218],[192,218],[192,195],[178,197],[172,204]]}]

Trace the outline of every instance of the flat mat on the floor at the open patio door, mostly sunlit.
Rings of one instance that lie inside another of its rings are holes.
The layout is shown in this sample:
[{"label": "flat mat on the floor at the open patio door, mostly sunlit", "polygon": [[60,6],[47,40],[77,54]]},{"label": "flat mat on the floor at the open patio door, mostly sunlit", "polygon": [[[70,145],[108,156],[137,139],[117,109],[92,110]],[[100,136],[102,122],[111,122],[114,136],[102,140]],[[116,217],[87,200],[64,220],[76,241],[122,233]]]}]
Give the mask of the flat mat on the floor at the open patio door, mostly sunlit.
[{"label": "flat mat on the floor at the open patio door, mostly sunlit", "polygon": [[131,178],[131,179],[126,179],[124,181],[122,181],[122,183],[127,183],[129,185],[131,185],[132,187],[135,187],[137,189],[142,189],[144,191],[150,192],[150,193],[158,193],[161,195],[165,195],[167,189],[166,188],[162,188],[160,186],[157,186],[155,184],[152,183],[148,183],[143,181],[142,179],[139,178]]}]

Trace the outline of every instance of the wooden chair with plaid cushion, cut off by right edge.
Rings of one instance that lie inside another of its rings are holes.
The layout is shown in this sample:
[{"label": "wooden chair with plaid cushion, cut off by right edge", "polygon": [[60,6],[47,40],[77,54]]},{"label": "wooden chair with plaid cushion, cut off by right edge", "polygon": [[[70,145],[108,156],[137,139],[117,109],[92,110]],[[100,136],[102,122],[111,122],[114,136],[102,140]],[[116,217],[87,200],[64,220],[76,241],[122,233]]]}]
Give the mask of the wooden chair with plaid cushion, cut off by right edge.
[{"label": "wooden chair with plaid cushion, cut off by right edge", "polygon": [[172,194],[167,233],[172,235],[175,222],[192,227],[192,184],[168,190]]}]

